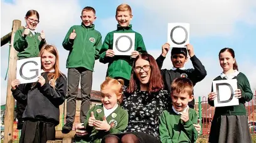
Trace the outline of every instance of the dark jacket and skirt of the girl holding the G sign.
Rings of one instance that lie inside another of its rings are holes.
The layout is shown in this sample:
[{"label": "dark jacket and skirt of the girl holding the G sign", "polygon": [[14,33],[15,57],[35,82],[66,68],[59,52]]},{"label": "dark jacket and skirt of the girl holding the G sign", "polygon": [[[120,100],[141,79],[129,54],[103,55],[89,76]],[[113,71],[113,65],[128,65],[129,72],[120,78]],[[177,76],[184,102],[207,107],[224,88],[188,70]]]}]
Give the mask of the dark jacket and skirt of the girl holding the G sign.
[{"label": "dark jacket and skirt of the girl holding the G sign", "polygon": [[19,142],[46,142],[55,140],[55,126],[59,124],[59,106],[65,101],[67,78],[61,75],[51,87],[47,75],[41,75],[46,82],[41,87],[40,83],[21,84],[13,92],[13,97],[18,102],[26,102],[23,113],[23,128]]}]

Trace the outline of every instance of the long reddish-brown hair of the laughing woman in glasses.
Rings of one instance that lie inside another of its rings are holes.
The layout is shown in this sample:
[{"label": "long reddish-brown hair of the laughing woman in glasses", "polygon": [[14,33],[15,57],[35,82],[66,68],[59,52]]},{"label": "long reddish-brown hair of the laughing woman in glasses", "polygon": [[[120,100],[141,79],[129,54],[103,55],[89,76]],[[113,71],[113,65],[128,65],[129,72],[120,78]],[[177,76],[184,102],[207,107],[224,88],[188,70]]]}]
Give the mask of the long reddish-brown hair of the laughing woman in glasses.
[{"label": "long reddish-brown hair of the laughing woman in glasses", "polygon": [[139,88],[140,81],[134,72],[135,63],[136,61],[142,58],[143,60],[149,61],[149,65],[151,66],[151,76],[149,77],[149,93],[151,92],[158,92],[159,90],[163,89],[164,83],[161,76],[161,72],[157,66],[156,60],[153,56],[149,55],[148,53],[142,53],[141,55],[137,56],[134,60],[132,66],[132,74],[129,83],[129,87],[127,88],[127,93],[134,93],[137,88]]}]

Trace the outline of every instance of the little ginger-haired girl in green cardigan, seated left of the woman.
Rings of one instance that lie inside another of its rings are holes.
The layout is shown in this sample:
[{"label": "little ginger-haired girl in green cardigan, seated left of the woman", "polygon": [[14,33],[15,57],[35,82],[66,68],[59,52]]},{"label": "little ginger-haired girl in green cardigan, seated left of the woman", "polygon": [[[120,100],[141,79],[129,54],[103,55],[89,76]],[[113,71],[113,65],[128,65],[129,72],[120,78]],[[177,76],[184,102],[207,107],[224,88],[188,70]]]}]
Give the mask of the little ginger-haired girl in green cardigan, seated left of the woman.
[{"label": "little ginger-haired girl in green cardigan, seated left of the woman", "polygon": [[100,85],[102,105],[95,105],[87,113],[84,126],[88,135],[77,142],[101,142],[106,134],[117,134],[127,127],[128,112],[120,107],[123,80],[106,78]]}]

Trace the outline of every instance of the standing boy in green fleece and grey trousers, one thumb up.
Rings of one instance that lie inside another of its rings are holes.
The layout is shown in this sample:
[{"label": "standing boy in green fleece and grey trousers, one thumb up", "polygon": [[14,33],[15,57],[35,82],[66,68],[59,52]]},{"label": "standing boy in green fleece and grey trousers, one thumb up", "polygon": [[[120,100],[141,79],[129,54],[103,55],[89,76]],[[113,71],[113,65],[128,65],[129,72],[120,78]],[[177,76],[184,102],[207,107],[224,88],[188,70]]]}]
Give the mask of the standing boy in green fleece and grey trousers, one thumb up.
[{"label": "standing boy in green fleece and grey trousers, one thumb up", "polygon": [[102,36],[95,30],[95,9],[85,7],[82,10],[82,24],[72,26],[62,45],[70,51],[67,59],[68,68],[68,97],[66,124],[62,132],[67,134],[72,130],[75,118],[76,98],[79,80],[81,79],[81,112],[80,122],[85,122],[87,111],[90,109],[90,92],[92,90],[92,72],[95,60],[99,59],[102,46]]}]

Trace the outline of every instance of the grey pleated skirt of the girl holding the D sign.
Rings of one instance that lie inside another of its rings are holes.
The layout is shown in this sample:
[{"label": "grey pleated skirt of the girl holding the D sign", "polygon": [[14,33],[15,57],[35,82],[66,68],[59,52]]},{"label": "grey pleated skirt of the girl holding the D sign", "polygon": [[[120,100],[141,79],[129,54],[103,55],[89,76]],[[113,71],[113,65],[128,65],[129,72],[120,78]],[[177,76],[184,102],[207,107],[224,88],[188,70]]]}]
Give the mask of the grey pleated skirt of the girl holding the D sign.
[{"label": "grey pleated skirt of the girl holding the D sign", "polygon": [[252,142],[246,115],[219,115],[213,117],[209,135],[211,143]]}]

